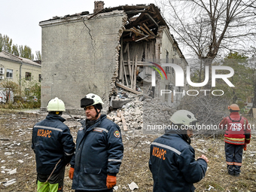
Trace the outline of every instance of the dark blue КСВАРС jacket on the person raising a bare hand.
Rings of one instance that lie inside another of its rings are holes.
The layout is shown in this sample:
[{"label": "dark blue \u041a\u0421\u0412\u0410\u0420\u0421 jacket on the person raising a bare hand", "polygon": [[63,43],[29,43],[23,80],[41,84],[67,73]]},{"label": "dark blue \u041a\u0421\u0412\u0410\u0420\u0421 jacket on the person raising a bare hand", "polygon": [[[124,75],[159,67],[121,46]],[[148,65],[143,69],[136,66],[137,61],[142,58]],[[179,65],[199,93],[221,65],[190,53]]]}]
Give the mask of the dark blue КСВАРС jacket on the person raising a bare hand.
[{"label": "dark blue \u041a\u0421\u0412\u0410\u0420\u0421 jacket on the person raising a bare hand", "polygon": [[194,191],[194,183],[204,178],[207,163],[195,160],[194,148],[184,135],[166,134],[151,144],[149,169],[154,179],[154,192]]}]

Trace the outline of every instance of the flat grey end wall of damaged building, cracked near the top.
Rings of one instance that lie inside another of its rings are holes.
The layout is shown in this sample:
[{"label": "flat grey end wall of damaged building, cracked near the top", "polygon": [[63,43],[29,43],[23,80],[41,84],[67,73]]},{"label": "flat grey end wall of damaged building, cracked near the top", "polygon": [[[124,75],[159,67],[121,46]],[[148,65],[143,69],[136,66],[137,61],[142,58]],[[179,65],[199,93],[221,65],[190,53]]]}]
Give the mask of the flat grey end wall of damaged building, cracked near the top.
[{"label": "flat grey end wall of damaged building, cracked near the top", "polygon": [[123,11],[94,17],[54,17],[42,28],[41,107],[59,97],[72,114],[81,113],[80,99],[96,93],[108,109],[118,73],[120,36],[126,23]]}]

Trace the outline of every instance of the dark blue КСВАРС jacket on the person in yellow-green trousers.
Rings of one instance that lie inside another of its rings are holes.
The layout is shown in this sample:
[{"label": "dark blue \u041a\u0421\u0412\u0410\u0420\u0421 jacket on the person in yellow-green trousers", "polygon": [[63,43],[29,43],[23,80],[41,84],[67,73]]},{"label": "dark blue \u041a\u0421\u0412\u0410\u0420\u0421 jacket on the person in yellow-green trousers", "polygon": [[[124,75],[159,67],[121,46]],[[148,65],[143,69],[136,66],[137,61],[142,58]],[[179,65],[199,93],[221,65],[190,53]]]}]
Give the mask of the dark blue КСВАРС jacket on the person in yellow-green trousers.
[{"label": "dark blue \u041a\u0421\u0412\u0410\u0420\u0421 jacket on the person in yellow-green trousers", "polygon": [[32,132],[32,149],[35,152],[36,170],[43,175],[59,172],[66,166],[74,154],[75,143],[64,118],[56,114],[47,114],[44,120],[36,123]]}]

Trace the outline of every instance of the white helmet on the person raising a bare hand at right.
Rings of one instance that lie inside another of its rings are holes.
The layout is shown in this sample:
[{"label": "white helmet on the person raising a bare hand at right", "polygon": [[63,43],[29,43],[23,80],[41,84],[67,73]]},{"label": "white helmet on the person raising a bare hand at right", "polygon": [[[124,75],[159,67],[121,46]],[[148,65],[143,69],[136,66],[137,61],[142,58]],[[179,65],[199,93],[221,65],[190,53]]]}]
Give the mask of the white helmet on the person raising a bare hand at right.
[{"label": "white helmet on the person raising a bare hand at right", "polygon": [[170,120],[176,125],[182,124],[184,126],[196,125],[197,123],[197,119],[194,114],[187,110],[176,111],[172,114]]}]

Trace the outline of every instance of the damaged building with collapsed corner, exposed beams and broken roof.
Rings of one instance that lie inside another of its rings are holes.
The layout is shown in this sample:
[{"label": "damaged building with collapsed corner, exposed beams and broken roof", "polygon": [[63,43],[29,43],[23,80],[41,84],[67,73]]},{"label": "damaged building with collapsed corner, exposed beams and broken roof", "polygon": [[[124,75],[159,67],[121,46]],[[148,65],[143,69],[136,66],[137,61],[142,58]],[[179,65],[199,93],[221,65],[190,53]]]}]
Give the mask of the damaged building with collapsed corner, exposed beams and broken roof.
[{"label": "damaged building with collapsed corner, exposed beams and broken roof", "polygon": [[[182,94],[160,95],[160,90],[182,92],[185,87],[175,87],[172,67],[160,70],[157,66],[175,63],[185,69],[187,62],[154,4],[104,8],[104,2],[95,2],[93,14],[56,16],[39,25],[42,108],[58,96],[68,110],[78,111],[80,99],[96,93],[106,109],[120,87],[136,94],[142,90],[145,97],[157,97],[169,105],[181,98]],[[154,70],[159,71],[155,86]]]}]

